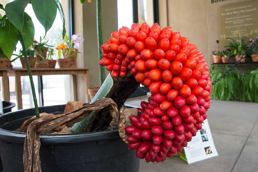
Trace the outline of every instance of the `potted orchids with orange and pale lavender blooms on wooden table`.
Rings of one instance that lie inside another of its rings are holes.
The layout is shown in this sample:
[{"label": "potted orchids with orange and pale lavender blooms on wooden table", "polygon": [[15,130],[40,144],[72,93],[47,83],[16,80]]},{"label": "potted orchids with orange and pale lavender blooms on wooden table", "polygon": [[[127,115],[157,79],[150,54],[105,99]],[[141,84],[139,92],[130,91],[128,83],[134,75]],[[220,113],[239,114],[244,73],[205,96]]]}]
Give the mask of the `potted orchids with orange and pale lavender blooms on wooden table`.
[{"label": "potted orchids with orange and pale lavender blooms on wooden table", "polygon": [[[57,60],[60,68],[76,68],[76,58],[78,52],[78,48],[83,42],[83,37],[76,35],[72,35],[71,40],[69,37],[65,35],[64,41],[62,44],[57,42],[56,50],[58,50],[58,57]],[[64,59],[61,59],[61,54],[63,55]]]}]

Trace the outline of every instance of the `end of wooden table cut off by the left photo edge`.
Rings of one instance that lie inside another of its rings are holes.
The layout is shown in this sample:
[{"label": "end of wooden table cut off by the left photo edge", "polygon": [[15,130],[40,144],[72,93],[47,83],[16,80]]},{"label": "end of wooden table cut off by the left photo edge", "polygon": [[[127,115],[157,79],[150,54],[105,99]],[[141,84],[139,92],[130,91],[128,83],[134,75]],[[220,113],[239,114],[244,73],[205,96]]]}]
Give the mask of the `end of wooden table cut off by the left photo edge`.
[{"label": "end of wooden table cut off by the left photo edge", "polygon": [[7,75],[7,71],[9,70],[11,69],[9,68],[0,69],[0,76],[2,76],[3,100],[8,102],[10,101],[9,79]]}]

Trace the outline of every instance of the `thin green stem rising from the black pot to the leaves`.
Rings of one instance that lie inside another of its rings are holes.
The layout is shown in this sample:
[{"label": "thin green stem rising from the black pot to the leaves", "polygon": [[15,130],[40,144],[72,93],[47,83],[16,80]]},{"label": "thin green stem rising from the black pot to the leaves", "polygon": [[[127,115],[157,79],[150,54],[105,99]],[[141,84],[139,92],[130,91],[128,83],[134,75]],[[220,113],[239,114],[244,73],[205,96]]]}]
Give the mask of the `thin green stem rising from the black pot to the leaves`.
[{"label": "thin green stem rising from the black pot to the leaves", "polygon": [[35,115],[36,115],[36,118],[38,119],[40,116],[39,116],[38,102],[37,102],[36,93],[35,93],[35,87],[34,87],[34,83],[33,83],[32,73],[31,73],[31,69],[30,69],[30,64],[29,64],[25,44],[24,44],[24,41],[23,41],[23,38],[22,38],[22,35],[21,35],[20,31],[19,31],[19,37],[20,37],[21,46],[22,46],[22,50],[23,50],[23,53],[24,53],[24,57],[25,57],[25,62],[26,62],[29,78],[30,78],[30,86],[31,86],[32,97],[33,97],[34,106],[35,106]]}]

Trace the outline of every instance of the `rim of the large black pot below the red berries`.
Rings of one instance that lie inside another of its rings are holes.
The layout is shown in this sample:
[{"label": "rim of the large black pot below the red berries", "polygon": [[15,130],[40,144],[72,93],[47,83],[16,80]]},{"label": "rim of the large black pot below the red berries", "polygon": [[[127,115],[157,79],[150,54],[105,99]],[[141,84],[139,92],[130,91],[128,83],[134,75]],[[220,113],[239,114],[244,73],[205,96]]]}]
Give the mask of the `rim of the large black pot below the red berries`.
[{"label": "rim of the large black pot below the red berries", "polygon": [[[53,106],[44,106],[44,107],[53,107]],[[8,118],[7,115],[12,114],[14,112],[15,113],[19,111],[26,112],[27,110],[34,110],[34,108],[7,112],[3,115],[0,115],[0,120],[7,119]],[[4,124],[6,124],[6,122]],[[26,133],[8,131],[3,128],[0,128],[0,140],[2,141],[24,144],[25,137],[26,137]],[[108,129],[104,131],[93,131],[93,132],[73,133],[73,134],[58,134],[58,135],[40,134],[40,141],[43,145],[53,145],[53,144],[83,143],[83,142],[89,142],[89,141],[108,140],[108,139],[114,139],[118,137],[120,137],[118,133],[118,128],[113,128],[113,129]]]}]

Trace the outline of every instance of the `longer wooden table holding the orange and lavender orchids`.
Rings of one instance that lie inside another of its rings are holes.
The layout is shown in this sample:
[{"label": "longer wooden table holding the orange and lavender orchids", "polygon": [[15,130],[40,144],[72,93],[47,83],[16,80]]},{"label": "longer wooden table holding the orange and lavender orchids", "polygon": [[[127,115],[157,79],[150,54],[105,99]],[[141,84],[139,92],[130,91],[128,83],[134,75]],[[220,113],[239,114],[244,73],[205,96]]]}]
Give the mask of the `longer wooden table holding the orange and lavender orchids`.
[{"label": "longer wooden table holding the orange and lavender orchids", "polygon": [[[90,98],[88,95],[88,87],[89,87],[89,69],[88,68],[32,68],[32,75],[42,76],[42,75],[71,75],[73,79],[73,94],[74,100],[77,100],[77,91],[76,91],[76,75],[84,74],[84,83],[85,83],[85,101],[90,102]],[[11,69],[8,70],[8,76],[15,76],[15,94],[17,99],[17,107],[18,109],[22,109],[22,92],[21,92],[21,76],[28,76],[27,69]],[[3,77],[4,78],[4,77]],[[8,77],[7,77],[8,80]],[[4,83],[4,82],[3,82]],[[9,86],[9,84],[8,84]],[[5,88],[7,90],[7,88]],[[9,88],[8,88],[9,93]],[[6,95],[8,96],[8,95]],[[9,93],[10,100],[10,93]]]}]

